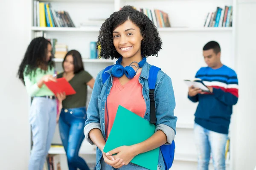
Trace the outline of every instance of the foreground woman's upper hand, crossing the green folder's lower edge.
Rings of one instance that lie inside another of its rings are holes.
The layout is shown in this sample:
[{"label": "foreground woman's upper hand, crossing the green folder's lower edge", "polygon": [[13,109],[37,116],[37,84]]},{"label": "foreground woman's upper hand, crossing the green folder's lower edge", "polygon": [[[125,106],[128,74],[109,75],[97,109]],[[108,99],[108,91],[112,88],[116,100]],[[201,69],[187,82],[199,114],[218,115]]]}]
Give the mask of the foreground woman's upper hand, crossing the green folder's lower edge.
[{"label": "foreground woman's upper hand, crossing the green folder's lower edge", "polygon": [[[120,161],[122,161],[122,163],[120,164],[115,164],[113,167],[114,168],[120,168],[123,165],[128,165],[130,163],[130,161],[137,156],[137,151],[136,151],[136,147],[133,146],[121,146],[121,147],[117,147],[116,149],[113,149],[111,151],[109,151],[108,153],[106,153],[107,156],[109,155],[114,155],[114,159],[120,159]],[[118,162],[119,163],[119,162]]]}]

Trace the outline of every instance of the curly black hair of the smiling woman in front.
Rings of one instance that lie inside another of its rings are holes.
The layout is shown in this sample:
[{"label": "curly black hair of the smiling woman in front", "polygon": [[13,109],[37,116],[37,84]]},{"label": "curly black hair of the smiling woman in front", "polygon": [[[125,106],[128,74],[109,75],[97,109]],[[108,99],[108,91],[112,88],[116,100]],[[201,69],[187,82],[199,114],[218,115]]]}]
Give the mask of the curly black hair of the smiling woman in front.
[{"label": "curly black hair of the smiling woman in front", "polygon": [[141,43],[141,52],[143,57],[158,56],[158,51],[162,48],[162,40],[160,38],[157,27],[143,12],[137,11],[132,6],[124,6],[120,11],[116,11],[105,20],[102,24],[99,37],[97,41],[97,47],[100,45],[101,51],[99,57],[104,59],[118,59],[121,55],[116,51],[113,45],[113,30],[125,23],[125,21],[131,20],[135,25],[140,28],[140,32],[143,36]]}]

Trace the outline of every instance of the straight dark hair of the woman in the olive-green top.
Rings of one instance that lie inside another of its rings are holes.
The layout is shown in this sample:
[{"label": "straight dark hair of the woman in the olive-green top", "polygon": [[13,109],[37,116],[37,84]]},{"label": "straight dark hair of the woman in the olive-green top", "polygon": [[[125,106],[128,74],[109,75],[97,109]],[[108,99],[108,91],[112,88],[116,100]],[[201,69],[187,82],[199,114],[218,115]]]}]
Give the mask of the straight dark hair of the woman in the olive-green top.
[{"label": "straight dark hair of the woman in the olive-green top", "polygon": [[71,55],[73,57],[74,74],[79,73],[80,71],[84,70],[84,65],[83,65],[81,54],[76,50],[70,50],[65,55],[63,62],[62,62],[63,70],[64,70],[64,62],[65,62],[67,56],[69,56],[69,55]]}]

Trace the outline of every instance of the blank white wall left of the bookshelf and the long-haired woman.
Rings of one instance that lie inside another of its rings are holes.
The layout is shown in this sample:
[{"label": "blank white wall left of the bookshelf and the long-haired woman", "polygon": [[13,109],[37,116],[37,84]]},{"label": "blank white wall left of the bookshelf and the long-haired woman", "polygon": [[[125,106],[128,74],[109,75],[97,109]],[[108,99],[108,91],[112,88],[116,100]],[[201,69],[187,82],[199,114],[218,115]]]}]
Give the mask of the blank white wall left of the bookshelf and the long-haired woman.
[{"label": "blank white wall left of the bookshelf and the long-haired woman", "polygon": [[0,1],[0,169],[3,170],[28,169],[28,97],[16,77],[29,43],[29,6],[25,1]]}]

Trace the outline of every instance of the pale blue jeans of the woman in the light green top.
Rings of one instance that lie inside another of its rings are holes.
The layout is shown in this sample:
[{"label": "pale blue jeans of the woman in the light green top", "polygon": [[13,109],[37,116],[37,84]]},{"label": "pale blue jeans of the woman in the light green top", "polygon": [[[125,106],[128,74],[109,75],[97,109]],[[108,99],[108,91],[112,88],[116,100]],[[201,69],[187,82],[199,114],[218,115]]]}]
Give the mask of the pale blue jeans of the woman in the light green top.
[{"label": "pale blue jeans of the woman in the light green top", "polygon": [[43,170],[56,127],[56,100],[34,97],[29,112],[33,140],[29,170]]}]

